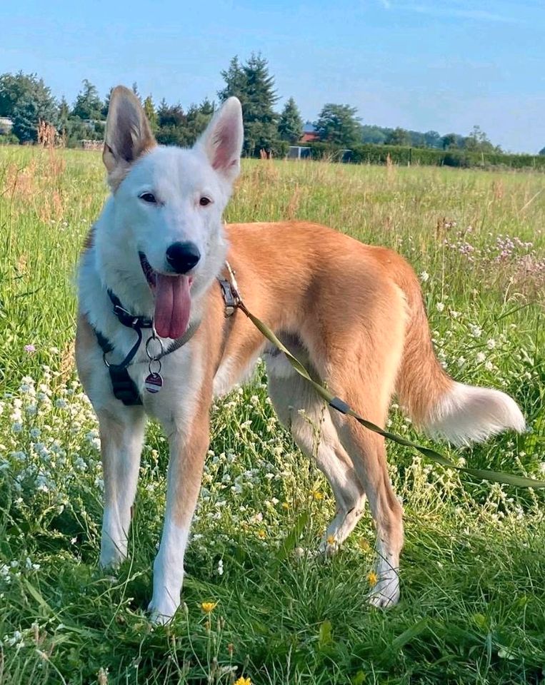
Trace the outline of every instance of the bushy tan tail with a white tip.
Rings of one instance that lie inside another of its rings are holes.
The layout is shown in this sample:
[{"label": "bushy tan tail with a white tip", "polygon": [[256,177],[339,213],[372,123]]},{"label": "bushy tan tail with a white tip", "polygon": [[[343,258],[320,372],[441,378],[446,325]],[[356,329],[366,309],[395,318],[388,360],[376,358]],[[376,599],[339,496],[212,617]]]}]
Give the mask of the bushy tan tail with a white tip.
[{"label": "bushy tan tail with a white tip", "polygon": [[454,445],[482,442],[503,430],[525,429],[524,416],[505,392],[464,385],[441,367],[431,342],[428,318],[416,274],[403,260],[397,285],[408,305],[406,338],[396,392],[402,407],[431,437]]}]

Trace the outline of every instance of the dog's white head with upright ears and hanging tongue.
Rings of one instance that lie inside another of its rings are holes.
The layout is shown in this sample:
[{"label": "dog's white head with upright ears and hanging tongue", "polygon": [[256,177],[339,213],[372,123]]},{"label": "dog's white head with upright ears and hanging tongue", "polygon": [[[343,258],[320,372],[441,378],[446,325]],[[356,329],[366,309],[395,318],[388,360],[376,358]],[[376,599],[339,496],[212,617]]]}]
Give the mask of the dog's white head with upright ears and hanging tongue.
[{"label": "dog's white head with upright ears and hanging tongue", "polygon": [[164,338],[184,334],[191,298],[225,258],[221,215],[240,171],[242,141],[236,98],[216,112],[193,148],[184,149],[156,144],[134,93],[123,86],[111,93],[103,153],[112,190],[111,261],[123,253],[117,280],[125,291],[145,287]]}]

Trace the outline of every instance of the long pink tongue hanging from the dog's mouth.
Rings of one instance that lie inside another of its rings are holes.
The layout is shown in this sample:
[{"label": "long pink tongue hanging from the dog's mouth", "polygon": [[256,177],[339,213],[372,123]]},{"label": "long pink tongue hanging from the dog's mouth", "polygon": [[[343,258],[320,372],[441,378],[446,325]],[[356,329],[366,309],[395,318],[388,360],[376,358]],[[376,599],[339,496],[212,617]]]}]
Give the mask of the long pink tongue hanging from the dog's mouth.
[{"label": "long pink tongue hanging from the dog's mouth", "polygon": [[187,330],[191,295],[188,276],[156,276],[155,330],[161,338],[181,338]]}]

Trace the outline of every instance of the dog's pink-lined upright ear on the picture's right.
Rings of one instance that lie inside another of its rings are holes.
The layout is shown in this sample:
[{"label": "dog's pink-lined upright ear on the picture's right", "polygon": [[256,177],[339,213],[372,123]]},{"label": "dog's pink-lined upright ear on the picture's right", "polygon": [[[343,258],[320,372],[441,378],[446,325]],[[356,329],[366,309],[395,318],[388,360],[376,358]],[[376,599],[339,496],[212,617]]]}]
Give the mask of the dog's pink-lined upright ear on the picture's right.
[{"label": "dog's pink-lined upright ear on the picture's right", "polygon": [[214,114],[196,146],[204,149],[212,168],[226,181],[233,183],[240,172],[243,141],[241,103],[238,98],[229,98]]}]

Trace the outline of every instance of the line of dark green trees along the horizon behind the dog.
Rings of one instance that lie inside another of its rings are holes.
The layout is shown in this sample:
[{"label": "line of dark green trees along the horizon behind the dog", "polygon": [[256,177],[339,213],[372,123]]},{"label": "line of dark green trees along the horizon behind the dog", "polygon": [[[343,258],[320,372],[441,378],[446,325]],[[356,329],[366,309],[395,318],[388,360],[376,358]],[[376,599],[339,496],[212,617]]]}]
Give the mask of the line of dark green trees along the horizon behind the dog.
[{"label": "line of dark green trees along the horizon behind the dog", "polygon": [[[326,103],[314,122],[306,122],[293,97],[281,112],[276,111],[279,95],[274,76],[261,54],[251,54],[244,63],[238,57],[221,71],[224,86],[217,92],[219,103],[230,96],[239,98],[244,118],[244,154],[259,156],[262,151],[272,156],[284,156],[289,145],[301,141],[304,129],[319,143],[337,148],[355,148],[364,143],[384,146],[464,150],[468,152],[501,153],[499,146],[489,141],[486,133],[474,126],[467,136],[437,131],[407,131],[404,128],[384,128],[361,123],[358,111],[348,104]],[[184,108],[166,100],[156,105],[151,95],[142,99],[138,86],[133,90],[149,118],[157,141],[166,145],[190,146],[209,122],[215,101],[205,98],[199,104]],[[84,79],[81,91],[71,105],[66,98],[56,101],[51,89],[35,73],[4,73],[0,75],[0,142],[36,143],[41,122],[52,128],[56,141],[69,147],[81,141],[100,141],[111,90],[104,100],[90,81]],[[4,123],[2,123],[4,118]],[[12,126],[6,128],[6,119]],[[2,128],[4,126],[4,128]],[[541,154],[545,153],[544,150]]]}]

